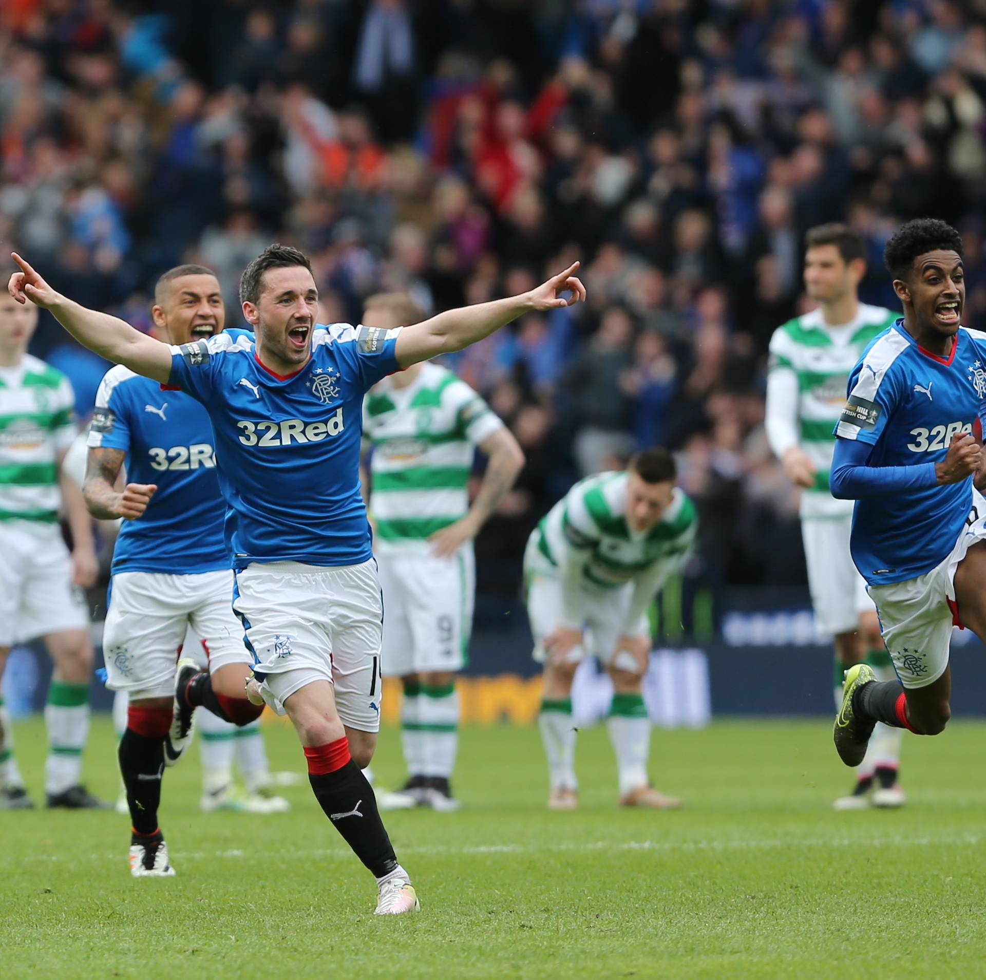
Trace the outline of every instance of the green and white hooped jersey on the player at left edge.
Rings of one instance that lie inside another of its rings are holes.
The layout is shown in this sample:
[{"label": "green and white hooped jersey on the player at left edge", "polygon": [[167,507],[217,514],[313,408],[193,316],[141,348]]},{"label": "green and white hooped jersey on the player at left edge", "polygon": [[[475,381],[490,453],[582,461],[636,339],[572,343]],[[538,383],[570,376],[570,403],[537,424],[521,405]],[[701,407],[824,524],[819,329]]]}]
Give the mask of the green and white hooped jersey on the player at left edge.
[{"label": "green and white hooped jersey on the player at left edge", "polygon": [[75,439],[74,404],[68,379],[36,357],[0,368],[0,521],[57,522],[58,454]]}]

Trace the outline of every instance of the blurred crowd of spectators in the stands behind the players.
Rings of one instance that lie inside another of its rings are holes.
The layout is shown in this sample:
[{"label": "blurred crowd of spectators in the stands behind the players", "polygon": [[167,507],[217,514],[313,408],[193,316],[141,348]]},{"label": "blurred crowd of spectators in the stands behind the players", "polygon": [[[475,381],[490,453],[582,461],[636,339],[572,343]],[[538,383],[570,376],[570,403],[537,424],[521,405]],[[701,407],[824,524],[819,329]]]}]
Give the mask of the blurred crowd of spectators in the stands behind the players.
[{"label": "blurred crowd of spectators in the stands behind the players", "polygon": [[[803,577],[761,423],[767,341],[808,309],[811,225],[857,228],[863,298],[891,305],[888,235],[949,220],[966,321],[986,312],[986,0],[0,10],[0,239],[84,304],[146,324],[155,277],[200,261],[236,322],[240,271],[274,240],[312,255],[329,321],[380,290],[438,311],[581,259],[587,306],[528,315],[454,365],[528,454],[479,542],[490,568],[519,574],[575,478],[662,443],[702,514],[697,575]],[[101,366],[51,322],[35,353],[84,414]]]}]

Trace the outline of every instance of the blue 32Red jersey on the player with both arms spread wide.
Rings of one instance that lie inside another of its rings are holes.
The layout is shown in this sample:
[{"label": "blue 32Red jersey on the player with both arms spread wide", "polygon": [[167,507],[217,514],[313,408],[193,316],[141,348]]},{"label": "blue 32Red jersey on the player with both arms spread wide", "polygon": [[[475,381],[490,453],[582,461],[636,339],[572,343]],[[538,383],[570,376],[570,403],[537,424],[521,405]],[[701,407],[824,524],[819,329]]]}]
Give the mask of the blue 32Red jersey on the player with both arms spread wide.
[{"label": "blue 32Red jersey on the player with both arms spread wide", "polygon": [[172,347],[171,383],[212,419],[235,569],[356,565],[372,556],[360,493],[363,394],[398,370],[398,333],[317,326],[311,359],[287,377],[259,362],[246,330]]}]

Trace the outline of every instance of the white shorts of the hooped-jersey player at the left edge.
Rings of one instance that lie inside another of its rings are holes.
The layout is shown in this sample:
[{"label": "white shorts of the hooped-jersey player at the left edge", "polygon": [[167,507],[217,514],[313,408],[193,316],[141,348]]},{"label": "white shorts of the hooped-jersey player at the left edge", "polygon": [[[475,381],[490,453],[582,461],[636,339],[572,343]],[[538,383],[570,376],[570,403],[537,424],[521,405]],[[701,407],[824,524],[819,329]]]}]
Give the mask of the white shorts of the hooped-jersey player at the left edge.
[{"label": "white shorts of the hooped-jersey player at the left edge", "polygon": [[89,607],[61,528],[0,521],[0,647],[78,629],[89,629]]}]

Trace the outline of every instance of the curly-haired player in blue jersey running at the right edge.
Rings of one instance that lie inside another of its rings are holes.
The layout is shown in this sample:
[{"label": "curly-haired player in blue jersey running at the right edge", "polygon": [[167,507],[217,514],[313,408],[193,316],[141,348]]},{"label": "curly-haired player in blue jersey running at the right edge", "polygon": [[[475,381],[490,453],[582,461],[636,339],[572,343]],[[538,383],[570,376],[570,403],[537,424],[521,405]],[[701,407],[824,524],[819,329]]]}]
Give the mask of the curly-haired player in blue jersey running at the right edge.
[{"label": "curly-haired player in blue jersey running at the right edge", "polygon": [[836,426],[831,489],[855,499],[851,550],[899,680],[846,672],[835,746],[857,765],[877,722],[938,735],[949,721],[952,625],[986,639],[986,500],[973,433],[986,398],[986,333],[961,326],[962,240],[911,221],[884,261],[904,315],[864,352]]}]

